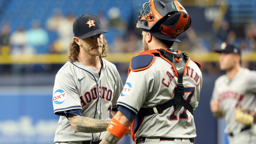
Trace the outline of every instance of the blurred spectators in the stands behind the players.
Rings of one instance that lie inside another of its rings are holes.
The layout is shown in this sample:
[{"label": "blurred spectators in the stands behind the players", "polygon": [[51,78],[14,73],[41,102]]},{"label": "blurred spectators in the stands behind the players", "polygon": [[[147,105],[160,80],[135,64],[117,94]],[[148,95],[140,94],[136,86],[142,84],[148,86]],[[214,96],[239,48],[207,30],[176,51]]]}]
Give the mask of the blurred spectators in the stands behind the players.
[{"label": "blurred spectators in the stands behind the players", "polygon": [[[137,10],[137,9],[136,9]],[[196,12],[194,12],[197,14]],[[130,15],[124,20],[118,7],[111,7],[107,12],[98,11],[95,14],[100,18],[102,28],[108,30],[104,33],[111,53],[131,53],[143,50],[141,30],[135,28],[137,15]],[[0,55],[18,54],[65,54],[73,34],[73,22],[78,15],[68,13],[62,14],[56,9],[46,21],[34,19],[27,22],[30,28],[19,25],[11,28],[10,22],[1,26],[0,31]],[[222,42],[234,43],[244,51],[256,51],[256,24],[245,23],[242,26],[234,26],[229,20],[223,18],[217,30],[210,26],[207,31],[198,31],[193,25],[180,36],[181,43],[175,43],[174,49],[185,52],[213,52],[220,48]],[[245,64],[249,67],[248,63]],[[206,73],[217,73],[218,63],[204,64]],[[255,64],[254,66],[255,67]],[[25,69],[21,70],[21,69]],[[47,66],[34,68],[38,71],[49,71]],[[122,66],[120,66],[122,69]],[[126,69],[123,69],[126,71]],[[14,65],[11,71],[35,71],[29,65]],[[50,70],[51,71],[51,70]]]}]

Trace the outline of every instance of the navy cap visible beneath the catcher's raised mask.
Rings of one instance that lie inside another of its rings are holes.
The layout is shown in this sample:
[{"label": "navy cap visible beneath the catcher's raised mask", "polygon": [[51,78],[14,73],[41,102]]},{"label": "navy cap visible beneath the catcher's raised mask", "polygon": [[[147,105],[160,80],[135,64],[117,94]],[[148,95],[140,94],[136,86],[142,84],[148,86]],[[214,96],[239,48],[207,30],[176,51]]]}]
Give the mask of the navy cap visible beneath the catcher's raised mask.
[{"label": "navy cap visible beneath the catcher's raised mask", "polygon": [[181,42],[176,37],[167,36],[166,34],[162,33],[160,30],[146,30],[145,28],[142,28],[142,30],[145,32],[149,32],[152,36],[159,38],[159,39],[163,39],[166,41],[174,41],[174,42],[179,42],[179,43]]}]

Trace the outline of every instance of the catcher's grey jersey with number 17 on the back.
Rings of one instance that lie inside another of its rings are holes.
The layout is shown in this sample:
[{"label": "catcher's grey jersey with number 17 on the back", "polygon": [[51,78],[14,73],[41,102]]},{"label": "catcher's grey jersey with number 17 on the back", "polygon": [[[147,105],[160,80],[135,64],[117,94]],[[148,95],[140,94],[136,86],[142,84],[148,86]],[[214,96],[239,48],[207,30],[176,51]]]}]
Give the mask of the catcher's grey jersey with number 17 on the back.
[{"label": "catcher's grey jersey with number 17 on the back", "polygon": [[[165,103],[174,98],[177,80],[171,64],[160,57],[155,57],[148,69],[130,72],[117,105],[138,113],[141,107],[151,108]],[[187,65],[183,84],[183,98],[189,101],[195,110],[202,87],[202,73],[192,60]],[[135,134],[135,138],[139,137],[194,138],[194,118],[189,111],[184,110],[184,107],[172,106],[161,113],[145,116]]]}]

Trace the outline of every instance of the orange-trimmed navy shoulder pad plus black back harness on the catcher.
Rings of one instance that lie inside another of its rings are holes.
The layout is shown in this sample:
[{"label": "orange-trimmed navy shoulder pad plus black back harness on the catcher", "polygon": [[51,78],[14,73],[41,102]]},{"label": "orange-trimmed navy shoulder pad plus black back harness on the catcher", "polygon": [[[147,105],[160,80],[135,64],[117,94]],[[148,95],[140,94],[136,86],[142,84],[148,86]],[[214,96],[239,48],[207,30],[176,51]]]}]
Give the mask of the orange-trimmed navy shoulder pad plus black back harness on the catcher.
[{"label": "orange-trimmed navy shoulder pad plus black back harness on the catcher", "polygon": [[[161,57],[162,59],[166,60],[168,63],[172,65],[172,68],[174,69],[175,76],[178,78],[177,83],[177,92],[174,96],[174,98],[170,101],[167,101],[161,105],[155,106],[153,108],[141,108],[140,112],[143,116],[148,116],[150,114],[160,113],[161,111],[174,106],[174,105],[181,105],[185,107],[191,114],[193,114],[193,108],[185,101],[182,97],[183,93],[183,75],[185,74],[185,70],[187,68],[187,64],[190,61],[190,58],[186,53],[181,53],[179,50],[177,53],[172,53],[167,49],[154,49],[154,50],[147,50],[144,52],[139,53],[137,56],[133,57],[129,70],[128,75],[130,71],[141,71],[149,68],[154,60],[155,57]],[[194,60],[193,60],[194,61]],[[201,64],[194,61],[198,67],[201,67]],[[144,110],[145,109],[145,110]]]}]

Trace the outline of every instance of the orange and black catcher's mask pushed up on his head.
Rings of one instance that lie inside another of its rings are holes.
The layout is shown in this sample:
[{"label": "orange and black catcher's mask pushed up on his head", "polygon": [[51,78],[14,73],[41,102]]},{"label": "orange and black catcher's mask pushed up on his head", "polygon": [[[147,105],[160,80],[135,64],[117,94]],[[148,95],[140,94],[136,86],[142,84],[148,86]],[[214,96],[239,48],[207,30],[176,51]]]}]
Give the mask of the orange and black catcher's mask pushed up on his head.
[{"label": "orange and black catcher's mask pushed up on his head", "polygon": [[191,26],[191,18],[177,0],[149,0],[139,11],[136,27],[156,38],[180,42],[176,38]]}]

